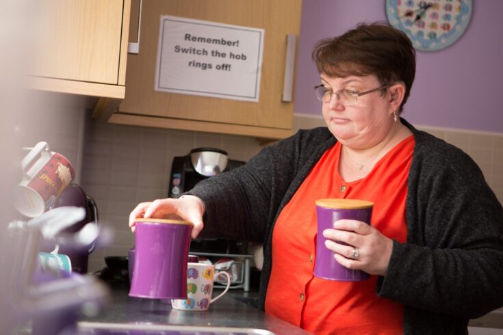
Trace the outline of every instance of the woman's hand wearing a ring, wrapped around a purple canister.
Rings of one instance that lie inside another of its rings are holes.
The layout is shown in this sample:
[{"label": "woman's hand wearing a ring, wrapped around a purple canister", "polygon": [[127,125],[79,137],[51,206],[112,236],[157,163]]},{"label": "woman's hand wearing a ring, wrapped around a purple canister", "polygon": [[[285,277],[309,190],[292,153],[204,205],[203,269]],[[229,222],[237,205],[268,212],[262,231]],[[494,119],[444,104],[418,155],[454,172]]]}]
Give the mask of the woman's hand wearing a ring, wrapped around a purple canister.
[{"label": "woman's hand wearing a ring, wrapped around a purple canister", "polygon": [[[333,229],[323,231],[326,247],[335,252],[335,259],[348,269],[362,270],[371,275],[385,276],[393,250],[393,240],[376,228],[357,220],[343,219],[334,223]],[[336,241],[347,243],[344,245]],[[352,258],[358,248],[358,259]]]}]

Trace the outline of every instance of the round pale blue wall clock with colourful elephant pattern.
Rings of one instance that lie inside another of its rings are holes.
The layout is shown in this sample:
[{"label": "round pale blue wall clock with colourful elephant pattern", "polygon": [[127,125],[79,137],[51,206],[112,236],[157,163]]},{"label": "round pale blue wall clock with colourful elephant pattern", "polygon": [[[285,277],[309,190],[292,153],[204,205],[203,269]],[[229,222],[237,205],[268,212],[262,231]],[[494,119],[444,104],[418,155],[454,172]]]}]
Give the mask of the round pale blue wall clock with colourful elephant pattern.
[{"label": "round pale blue wall clock with colourful elephant pattern", "polygon": [[458,40],[471,14],[472,0],[386,0],[389,23],[423,51],[440,50]]}]

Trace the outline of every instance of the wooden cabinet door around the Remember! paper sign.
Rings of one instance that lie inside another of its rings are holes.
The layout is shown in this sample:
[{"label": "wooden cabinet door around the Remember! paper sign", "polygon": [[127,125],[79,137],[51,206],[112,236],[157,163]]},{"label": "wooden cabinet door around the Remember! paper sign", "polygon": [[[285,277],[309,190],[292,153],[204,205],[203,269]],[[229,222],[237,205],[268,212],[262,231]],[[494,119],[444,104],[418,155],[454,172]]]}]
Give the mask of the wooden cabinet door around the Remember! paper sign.
[{"label": "wooden cabinet door around the Remember! paper sign", "polygon": [[[134,115],[137,124],[152,126],[155,122],[162,123],[163,119],[177,119],[198,121],[199,125],[209,122],[210,126],[234,124],[255,129],[291,129],[294,104],[282,102],[287,52],[285,41],[287,34],[298,37],[301,5],[301,0],[143,1],[140,53],[128,56],[125,100],[112,119],[115,117],[120,123],[121,115],[124,120],[126,115],[133,120]],[[162,15],[265,29],[259,102],[154,91],[159,18]],[[138,115],[154,117],[152,120],[156,121],[140,120]],[[181,129],[191,129],[192,126],[190,122],[175,124],[172,127]],[[169,123],[166,126],[171,127]],[[219,132],[237,133],[222,131],[221,127]]]}]

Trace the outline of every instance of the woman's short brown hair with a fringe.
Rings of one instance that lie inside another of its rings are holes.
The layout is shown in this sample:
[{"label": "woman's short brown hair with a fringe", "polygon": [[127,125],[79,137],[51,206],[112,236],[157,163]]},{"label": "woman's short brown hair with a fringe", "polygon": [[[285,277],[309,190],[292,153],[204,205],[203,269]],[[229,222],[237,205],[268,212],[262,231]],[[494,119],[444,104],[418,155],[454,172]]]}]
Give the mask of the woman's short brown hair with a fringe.
[{"label": "woman's short brown hair with a fringe", "polygon": [[400,111],[411,92],[415,50],[406,34],[387,23],[361,23],[341,36],[320,40],[312,57],[328,77],[375,75],[381,85],[403,81]]}]

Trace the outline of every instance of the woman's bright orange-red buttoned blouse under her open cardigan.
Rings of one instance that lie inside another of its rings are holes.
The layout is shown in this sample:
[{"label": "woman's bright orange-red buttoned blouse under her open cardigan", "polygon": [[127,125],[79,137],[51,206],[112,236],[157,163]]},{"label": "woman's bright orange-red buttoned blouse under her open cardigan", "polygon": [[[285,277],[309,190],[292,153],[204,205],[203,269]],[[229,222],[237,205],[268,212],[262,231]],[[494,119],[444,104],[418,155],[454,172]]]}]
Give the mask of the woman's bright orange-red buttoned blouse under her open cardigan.
[{"label": "woman's bright orange-red buttoned blouse under her open cardigan", "polygon": [[[315,334],[402,334],[403,306],[377,297],[376,276],[339,282],[313,276],[315,200],[352,198],[374,202],[372,226],[399,242],[407,239],[405,198],[413,136],[376,163],[365,178],[346,183],[337,167],[341,145],[327,150],[278,217],[272,235],[272,272],[266,313]],[[299,299],[299,293],[302,293]]]}]

